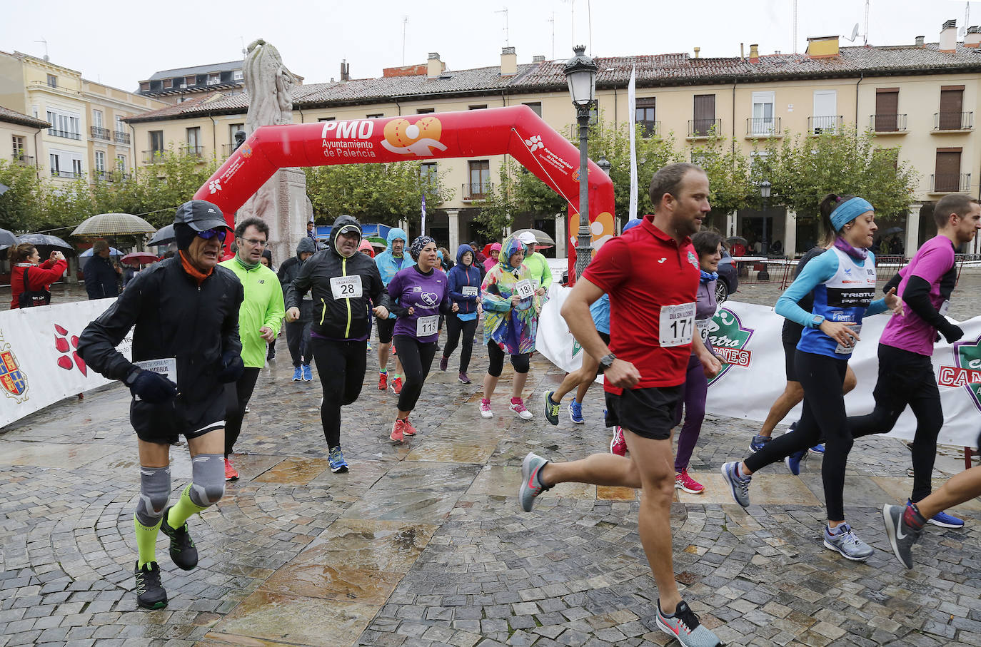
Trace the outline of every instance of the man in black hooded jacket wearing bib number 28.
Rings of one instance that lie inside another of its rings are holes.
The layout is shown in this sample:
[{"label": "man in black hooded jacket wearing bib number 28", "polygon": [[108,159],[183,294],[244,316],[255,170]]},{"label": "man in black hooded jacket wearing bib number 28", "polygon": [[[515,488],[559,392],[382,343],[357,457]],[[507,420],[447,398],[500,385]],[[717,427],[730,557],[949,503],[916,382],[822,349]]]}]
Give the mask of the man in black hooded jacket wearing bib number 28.
[{"label": "man in black hooded jacket wearing bib number 28", "polygon": [[340,407],[361,394],[369,305],[376,317],[388,317],[382,275],[371,258],[358,253],[360,242],[361,225],[350,216],[338,217],[326,249],[308,259],[286,289],[286,322],[299,319],[303,297],[313,291],[310,350],[324,389],[320,420],[334,473],[347,472],[340,452]]}]

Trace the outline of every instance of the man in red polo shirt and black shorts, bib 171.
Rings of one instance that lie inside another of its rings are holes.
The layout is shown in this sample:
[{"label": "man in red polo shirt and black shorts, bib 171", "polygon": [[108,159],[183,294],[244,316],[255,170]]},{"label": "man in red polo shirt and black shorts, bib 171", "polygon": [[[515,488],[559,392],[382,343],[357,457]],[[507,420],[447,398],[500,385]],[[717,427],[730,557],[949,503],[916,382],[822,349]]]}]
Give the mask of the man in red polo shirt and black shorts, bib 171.
[{"label": "man in red polo shirt and black shorts, bib 171", "polygon": [[[692,239],[708,213],[708,177],[693,164],[672,164],[650,180],[654,215],[606,242],[576,281],[562,317],[583,348],[605,367],[607,426],[623,427],[630,458],[594,454],[552,463],[529,454],[521,466],[519,499],[531,512],[535,497],[561,482],[643,488],[639,530],[657,582],[657,625],[686,647],[712,647],[718,637],[682,600],[671,556],[674,457],[671,428],[695,352],[706,375],[719,361],[693,335],[698,257]],[[590,304],[610,297],[610,344],[595,330]]]}]

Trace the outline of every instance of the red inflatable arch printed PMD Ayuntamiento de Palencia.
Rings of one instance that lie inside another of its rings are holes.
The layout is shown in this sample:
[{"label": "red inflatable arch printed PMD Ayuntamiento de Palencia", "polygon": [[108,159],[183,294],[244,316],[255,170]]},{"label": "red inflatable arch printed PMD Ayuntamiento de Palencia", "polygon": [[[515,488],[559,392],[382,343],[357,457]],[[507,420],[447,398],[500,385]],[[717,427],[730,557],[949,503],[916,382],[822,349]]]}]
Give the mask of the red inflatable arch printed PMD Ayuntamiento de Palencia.
[{"label": "red inflatable arch printed PMD Ayuntamiento de Palencia", "polygon": [[[277,170],[332,164],[511,155],[569,203],[566,231],[579,229],[579,149],[528,106],[382,119],[264,125],[194,194],[234,212]],[[614,235],[613,182],[589,166],[594,247]],[[570,270],[573,255],[570,257]],[[570,272],[570,279],[573,273]]]}]

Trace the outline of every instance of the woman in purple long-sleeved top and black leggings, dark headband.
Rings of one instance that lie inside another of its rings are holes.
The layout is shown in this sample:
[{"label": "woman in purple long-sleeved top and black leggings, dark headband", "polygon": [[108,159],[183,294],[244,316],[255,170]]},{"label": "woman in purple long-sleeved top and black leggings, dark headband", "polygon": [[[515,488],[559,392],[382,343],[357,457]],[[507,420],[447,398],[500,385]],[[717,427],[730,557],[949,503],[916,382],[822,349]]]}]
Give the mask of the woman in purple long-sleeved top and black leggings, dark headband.
[{"label": "woman in purple long-sleeved top and black leggings, dark headband", "polygon": [[398,318],[392,339],[405,371],[402,392],[398,394],[398,416],[388,436],[395,442],[416,435],[409,414],[415,409],[423,383],[433,366],[439,340],[439,315],[459,310],[450,301],[446,274],[439,269],[436,252],[433,238],[419,236],[409,247],[416,265],[399,270],[388,282],[391,312]]}]

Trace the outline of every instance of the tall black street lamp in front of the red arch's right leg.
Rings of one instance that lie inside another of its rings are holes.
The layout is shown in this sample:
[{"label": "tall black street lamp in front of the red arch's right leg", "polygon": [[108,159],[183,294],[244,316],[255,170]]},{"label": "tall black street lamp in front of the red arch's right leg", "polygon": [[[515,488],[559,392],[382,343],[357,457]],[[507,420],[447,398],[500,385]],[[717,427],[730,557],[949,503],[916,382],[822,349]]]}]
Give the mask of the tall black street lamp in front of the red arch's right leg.
[{"label": "tall black street lamp in front of the red arch's right leg", "polygon": [[[563,73],[569,82],[572,105],[576,107],[579,124],[579,245],[576,248],[576,276],[581,276],[590,264],[593,235],[590,232],[590,177],[587,146],[590,138],[590,108],[596,92],[596,72],[593,59],[586,55],[586,45],[576,45],[575,53],[566,61]],[[607,163],[608,164],[608,163]]]}]

